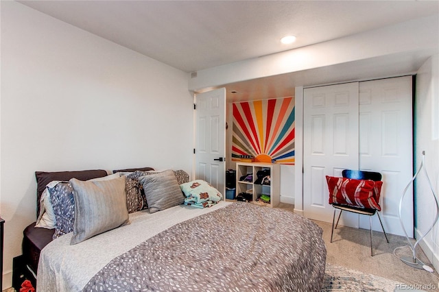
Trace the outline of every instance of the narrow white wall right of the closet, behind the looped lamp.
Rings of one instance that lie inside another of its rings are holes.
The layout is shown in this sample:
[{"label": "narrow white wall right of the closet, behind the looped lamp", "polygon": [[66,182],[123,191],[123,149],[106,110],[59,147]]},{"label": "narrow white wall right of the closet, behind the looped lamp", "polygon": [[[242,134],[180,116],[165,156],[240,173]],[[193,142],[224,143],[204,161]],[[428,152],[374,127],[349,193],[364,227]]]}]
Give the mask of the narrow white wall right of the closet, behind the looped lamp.
[{"label": "narrow white wall right of the closet, behind the looped lamp", "polygon": [[[425,151],[425,169],[436,194],[439,195],[439,55],[429,58],[416,75],[414,107],[414,165],[417,171],[422,151]],[[420,239],[434,221],[435,204],[425,174],[421,172],[415,181],[416,239]],[[438,224],[425,236],[421,247],[436,270],[439,270]]]}]

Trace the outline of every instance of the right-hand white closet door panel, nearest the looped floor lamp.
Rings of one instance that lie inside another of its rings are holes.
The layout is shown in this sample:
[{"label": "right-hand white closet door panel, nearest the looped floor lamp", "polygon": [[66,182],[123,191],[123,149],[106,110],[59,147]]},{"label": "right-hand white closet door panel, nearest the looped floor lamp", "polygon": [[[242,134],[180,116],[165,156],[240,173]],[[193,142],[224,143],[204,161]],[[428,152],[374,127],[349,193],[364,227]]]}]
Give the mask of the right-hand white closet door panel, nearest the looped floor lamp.
[{"label": "right-hand white closet door panel, nearest the looped floor lamp", "polygon": [[[412,77],[396,77],[359,84],[359,168],[383,175],[381,219],[386,232],[404,235],[399,222],[399,199],[412,178]],[[413,234],[413,194],[403,203],[403,221]],[[381,231],[378,218],[373,229]],[[369,228],[360,217],[360,227]]]}]

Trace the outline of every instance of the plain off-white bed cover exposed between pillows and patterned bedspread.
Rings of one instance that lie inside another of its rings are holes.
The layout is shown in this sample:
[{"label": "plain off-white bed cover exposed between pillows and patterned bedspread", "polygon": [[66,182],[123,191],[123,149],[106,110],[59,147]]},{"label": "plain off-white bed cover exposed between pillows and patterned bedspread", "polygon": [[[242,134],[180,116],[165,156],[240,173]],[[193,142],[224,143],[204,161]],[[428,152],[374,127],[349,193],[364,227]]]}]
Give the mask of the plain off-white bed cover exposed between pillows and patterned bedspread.
[{"label": "plain off-white bed cover exposed between pillows and patterned bedspread", "polygon": [[130,214],[130,224],[70,245],[73,232],[51,241],[41,251],[36,281],[38,292],[81,291],[113,258],[128,252],[152,236],[177,223],[213,212],[231,204],[220,202],[211,208],[175,206],[150,214]]}]

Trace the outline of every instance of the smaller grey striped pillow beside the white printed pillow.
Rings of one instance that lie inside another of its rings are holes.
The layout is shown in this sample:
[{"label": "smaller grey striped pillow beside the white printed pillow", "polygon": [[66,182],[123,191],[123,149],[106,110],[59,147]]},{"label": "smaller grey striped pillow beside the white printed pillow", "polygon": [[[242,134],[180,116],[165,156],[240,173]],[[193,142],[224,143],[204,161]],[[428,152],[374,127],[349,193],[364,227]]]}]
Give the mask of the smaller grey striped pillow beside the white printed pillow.
[{"label": "smaller grey striped pillow beside the white printed pillow", "polygon": [[145,191],[148,208],[151,213],[165,210],[185,202],[174,171],[144,175],[139,178]]}]

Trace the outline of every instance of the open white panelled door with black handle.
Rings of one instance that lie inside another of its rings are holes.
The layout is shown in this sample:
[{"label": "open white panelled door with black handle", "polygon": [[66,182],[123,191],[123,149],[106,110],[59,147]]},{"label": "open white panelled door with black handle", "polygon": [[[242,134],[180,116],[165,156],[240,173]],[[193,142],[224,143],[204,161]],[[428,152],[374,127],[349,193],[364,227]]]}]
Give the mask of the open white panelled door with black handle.
[{"label": "open white panelled door with black handle", "polygon": [[195,179],[226,197],[226,88],[195,95]]}]

